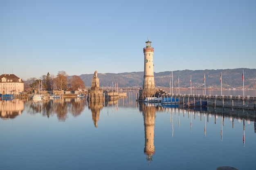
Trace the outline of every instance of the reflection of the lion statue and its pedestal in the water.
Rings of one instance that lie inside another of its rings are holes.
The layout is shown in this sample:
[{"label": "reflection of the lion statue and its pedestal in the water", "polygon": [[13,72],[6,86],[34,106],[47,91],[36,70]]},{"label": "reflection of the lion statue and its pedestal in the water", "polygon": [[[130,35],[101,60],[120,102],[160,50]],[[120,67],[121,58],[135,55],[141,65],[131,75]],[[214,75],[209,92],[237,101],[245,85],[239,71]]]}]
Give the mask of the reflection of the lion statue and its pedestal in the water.
[{"label": "reflection of the lion statue and its pedestal in the water", "polygon": [[88,105],[89,109],[92,111],[92,120],[94,122],[95,128],[98,127],[98,121],[99,121],[99,113],[101,109],[103,108],[103,103],[100,101],[90,101]]}]

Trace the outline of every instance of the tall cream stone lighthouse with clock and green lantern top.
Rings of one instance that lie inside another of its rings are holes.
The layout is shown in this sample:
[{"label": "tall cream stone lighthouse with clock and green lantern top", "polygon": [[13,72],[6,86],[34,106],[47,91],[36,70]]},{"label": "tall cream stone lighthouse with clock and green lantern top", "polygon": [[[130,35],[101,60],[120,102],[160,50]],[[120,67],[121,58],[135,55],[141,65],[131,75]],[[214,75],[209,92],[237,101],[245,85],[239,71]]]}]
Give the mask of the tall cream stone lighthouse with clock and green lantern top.
[{"label": "tall cream stone lighthouse with clock and green lantern top", "polygon": [[154,48],[151,47],[151,42],[146,42],[146,47],[143,48],[144,52],[144,82],[143,82],[143,95],[144,97],[151,97],[155,95],[155,78],[154,78],[154,64],[153,55]]}]

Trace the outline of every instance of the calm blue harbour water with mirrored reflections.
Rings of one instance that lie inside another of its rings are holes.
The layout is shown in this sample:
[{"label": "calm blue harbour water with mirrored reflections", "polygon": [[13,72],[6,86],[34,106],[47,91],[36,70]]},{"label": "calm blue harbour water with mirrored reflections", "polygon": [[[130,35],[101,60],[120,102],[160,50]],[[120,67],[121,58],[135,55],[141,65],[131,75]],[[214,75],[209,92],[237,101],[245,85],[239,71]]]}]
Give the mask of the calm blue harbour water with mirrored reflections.
[{"label": "calm blue harbour water with mirrored reflections", "polygon": [[246,111],[146,106],[134,92],[99,104],[14,99],[0,110],[2,170],[256,167],[255,115]]}]

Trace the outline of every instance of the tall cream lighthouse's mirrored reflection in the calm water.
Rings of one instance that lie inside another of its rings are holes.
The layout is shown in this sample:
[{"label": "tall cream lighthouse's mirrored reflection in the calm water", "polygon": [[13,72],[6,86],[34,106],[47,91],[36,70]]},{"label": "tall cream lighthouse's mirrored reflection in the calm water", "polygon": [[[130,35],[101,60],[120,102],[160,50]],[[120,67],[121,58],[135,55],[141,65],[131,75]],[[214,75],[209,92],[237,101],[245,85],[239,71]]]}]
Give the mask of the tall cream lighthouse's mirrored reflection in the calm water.
[{"label": "tall cream lighthouse's mirrored reflection in the calm water", "polygon": [[[154,146],[154,128],[155,128],[155,106],[142,105],[143,117],[144,117],[144,130],[145,130],[145,148],[144,153],[147,155],[147,160],[152,161],[155,154]],[[141,106],[140,105],[140,106]]]}]

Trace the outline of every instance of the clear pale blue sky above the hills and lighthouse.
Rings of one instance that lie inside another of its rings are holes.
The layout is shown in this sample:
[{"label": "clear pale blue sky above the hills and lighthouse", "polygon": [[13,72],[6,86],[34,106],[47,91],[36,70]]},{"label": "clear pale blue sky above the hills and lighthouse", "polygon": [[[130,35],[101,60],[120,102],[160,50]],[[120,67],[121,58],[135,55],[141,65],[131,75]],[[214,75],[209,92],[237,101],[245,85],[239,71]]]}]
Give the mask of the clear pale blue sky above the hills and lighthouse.
[{"label": "clear pale blue sky above the hills and lighthouse", "polygon": [[26,80],[256,68],[256,0],[1,0],[0,69]]}]

